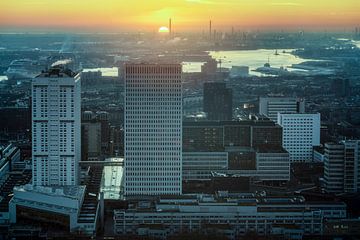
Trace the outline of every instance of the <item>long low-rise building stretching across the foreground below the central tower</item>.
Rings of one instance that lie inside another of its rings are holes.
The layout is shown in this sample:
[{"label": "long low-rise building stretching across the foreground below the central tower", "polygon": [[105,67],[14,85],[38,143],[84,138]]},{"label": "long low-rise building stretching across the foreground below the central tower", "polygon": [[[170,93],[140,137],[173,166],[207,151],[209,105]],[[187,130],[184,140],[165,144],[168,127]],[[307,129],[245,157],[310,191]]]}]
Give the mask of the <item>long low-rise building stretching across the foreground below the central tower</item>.
[{"label": "long low-rise building stretching across the foreground below the central tower", "polygon": [[308,202],[302,197],[251,194],[202,195],[131,203],[127,210],[114,211],[114,232],[160,239],[183,232],[215,232],[236,239],[248,232],[268,236],[282,224],[303,229],[303,235],[321,235],[324,219],[345,217],[346,205],[341,202]]}]

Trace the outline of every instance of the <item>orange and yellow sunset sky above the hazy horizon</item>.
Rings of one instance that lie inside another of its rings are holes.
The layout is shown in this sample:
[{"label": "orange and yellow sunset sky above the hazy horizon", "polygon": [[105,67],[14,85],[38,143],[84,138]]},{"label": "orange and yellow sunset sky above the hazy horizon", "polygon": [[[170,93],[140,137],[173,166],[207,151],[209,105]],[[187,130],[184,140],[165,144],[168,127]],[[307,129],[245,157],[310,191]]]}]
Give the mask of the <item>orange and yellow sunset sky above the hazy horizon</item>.
[{"label": "orange and yellow sunset sky above the hazy horizon", "polygon": [[1,30],[331,29],[360,25],[360,0],[1,0]]}]

